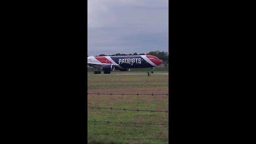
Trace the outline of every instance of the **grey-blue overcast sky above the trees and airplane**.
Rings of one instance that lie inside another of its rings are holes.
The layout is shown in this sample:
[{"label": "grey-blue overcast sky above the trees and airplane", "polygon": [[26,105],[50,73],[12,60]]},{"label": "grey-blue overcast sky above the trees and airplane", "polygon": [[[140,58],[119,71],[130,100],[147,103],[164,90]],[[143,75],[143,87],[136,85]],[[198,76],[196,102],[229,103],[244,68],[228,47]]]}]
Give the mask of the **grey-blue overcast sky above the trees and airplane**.
[{"label": "grey-blue overcast sky above the trees and airplane", "polygon": [[168,0],[87,0],[88,55],[169,52]]}]

